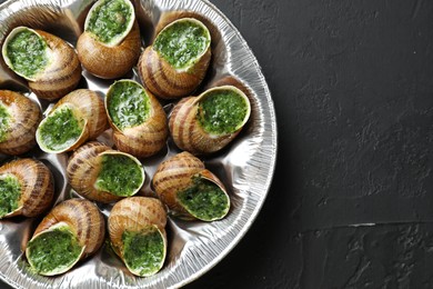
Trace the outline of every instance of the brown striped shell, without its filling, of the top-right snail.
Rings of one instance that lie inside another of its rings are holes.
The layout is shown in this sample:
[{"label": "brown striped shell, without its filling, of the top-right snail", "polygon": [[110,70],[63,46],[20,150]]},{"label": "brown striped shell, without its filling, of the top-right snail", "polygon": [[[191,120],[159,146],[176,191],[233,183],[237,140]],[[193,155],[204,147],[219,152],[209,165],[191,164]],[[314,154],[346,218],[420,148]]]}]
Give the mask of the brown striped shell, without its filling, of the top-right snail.
[{"label": "brown striped shell, without its filling, of the top-right snail", "polygon": [[139,74],[144,86],[154,94],[164,99],[184,97],[194,91],[204,79],[212,54],[210,32],[201,21],[194,18],[181,18],[171,22],[159,32],[155,41],[158,41],[161,33],[179,23],[192,23],[201,27],[208,39],[205,49],[194,61],[191,61],[187,67],[175,68],[155,50],[153,44],[143,51],[138,63]]}]

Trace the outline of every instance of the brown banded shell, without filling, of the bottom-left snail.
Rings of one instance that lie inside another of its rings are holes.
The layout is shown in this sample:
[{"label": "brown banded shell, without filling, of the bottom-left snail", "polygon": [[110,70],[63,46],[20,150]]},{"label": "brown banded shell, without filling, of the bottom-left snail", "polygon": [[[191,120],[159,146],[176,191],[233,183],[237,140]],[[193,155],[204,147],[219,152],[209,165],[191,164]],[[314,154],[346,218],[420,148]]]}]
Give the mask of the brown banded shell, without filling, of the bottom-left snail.
[{"label": "brown banded shell, without filling, of the bottom-left snail", "polygon": [[105,236],[105,221],[94,203],[83,199],[70,199],[63,201],[56,206],[43,218],[27,246],[26,256],[32,267],[34,265],[31,258],[31,242],[38,237],[46,236],[44,238],[48,239],[49,236],[47,232],[50,232],[56,228],[63,228],[77,238],[77,241],[81,247],[81,251],[77,259],[68,266],[53,268],[50,271],[40,271],[39,273],[41,275],[53,276],[68,271],[79,260],[82,260],[98,251]]}]

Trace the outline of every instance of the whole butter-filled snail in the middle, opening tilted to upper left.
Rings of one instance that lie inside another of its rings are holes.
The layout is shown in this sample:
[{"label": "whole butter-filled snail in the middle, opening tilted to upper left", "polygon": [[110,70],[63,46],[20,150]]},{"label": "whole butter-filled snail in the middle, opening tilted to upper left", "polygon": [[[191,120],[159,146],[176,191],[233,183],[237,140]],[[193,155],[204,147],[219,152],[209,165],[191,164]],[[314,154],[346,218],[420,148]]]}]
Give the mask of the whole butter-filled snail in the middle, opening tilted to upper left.
[{"label": "whole butter-filled snail in the middle, opening tilted to upper left", "polygon": [[135,157],[150,157],[165,144],[167,116],[155,97],[132,80],[115,81],[105,96],[115,147]]}]

